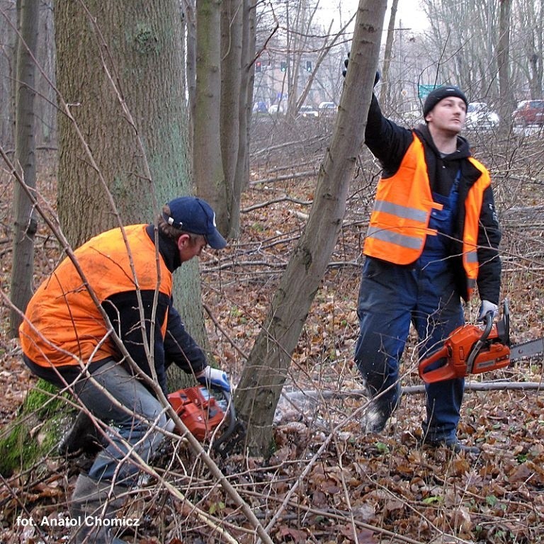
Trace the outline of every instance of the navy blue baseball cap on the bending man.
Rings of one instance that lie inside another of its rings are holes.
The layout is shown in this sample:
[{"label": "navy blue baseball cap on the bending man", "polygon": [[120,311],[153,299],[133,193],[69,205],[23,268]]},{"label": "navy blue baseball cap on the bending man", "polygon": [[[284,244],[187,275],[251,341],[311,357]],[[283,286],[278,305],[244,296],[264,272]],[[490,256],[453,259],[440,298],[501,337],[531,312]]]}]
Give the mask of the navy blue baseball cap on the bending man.
[{"label": "navy blue baseball cap on the bending man", "polygon": [[170,215],[164,213],[164,220],[176,229],[205,237],[213,249],[223,249],[227,241],[215,226],[215,212],[211,206],[196,196],[180,196],[168,203]]}]

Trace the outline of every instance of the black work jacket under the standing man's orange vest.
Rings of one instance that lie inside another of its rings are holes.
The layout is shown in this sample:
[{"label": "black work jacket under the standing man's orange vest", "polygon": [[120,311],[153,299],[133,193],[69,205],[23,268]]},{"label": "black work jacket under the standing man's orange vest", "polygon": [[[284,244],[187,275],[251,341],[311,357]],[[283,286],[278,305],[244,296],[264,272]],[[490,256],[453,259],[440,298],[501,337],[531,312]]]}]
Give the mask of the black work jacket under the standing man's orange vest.
[{"label": "black work jacket under the standing man's orange vest", "polygon": [[[459,182],[458,210],[455,214],[453,239],[450,244],[452,266],[455,266],[455,277],[458,278],[458,291],[467,298],[467,281],[462,254],[462,233],[465,222],[465,198],[470,186],[480,177],[480,171],[473,166],[470,157],[470,147],[465,138],[458,136],[458,148],[455,152],[442,156],[433,143],[426,125],[419,125],[414,130],[402,128],[382,115],[378,100],[373,95],[368,111],[365,130],[365,144],[382,166],[382,177],[387,178],[399,169],[404,154],[412,144],[414,133],[424,146],[425,162],[431,191],[448,196],[455,180],[455,175],[461,171]],[[479,271],[477,286],[480,299],[498,304],[501,288],[501,261],[499,259],[499,243],[501,231],[497,212],[495,210],[491,186],[486,189],[482,210],[480,212],[480,230],[478,232],[478,262]]]}]

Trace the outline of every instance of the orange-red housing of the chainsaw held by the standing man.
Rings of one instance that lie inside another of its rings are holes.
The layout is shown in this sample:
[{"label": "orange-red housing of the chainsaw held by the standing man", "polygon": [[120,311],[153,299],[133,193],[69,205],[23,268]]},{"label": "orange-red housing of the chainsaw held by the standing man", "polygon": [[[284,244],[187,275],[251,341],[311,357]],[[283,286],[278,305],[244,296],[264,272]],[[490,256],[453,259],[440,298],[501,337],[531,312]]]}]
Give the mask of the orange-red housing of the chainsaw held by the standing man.
[{"label": "orange-red housing of the chainsaw held by the standing man", "polygon": [[[488,370],[504,368],[510,363],[510,348],[503,344],[502,336],[494,324],[485,343],[477,348],[475,344],[482,337],[481,327],[465,324],[455,329],[444,342],[443,348],[419,363],[419,376],[426,383],[464,378],[469,374],[478,374]],[[470,364],[470,354],[474,349],[477,353]],[[427,370],[433,363],[446,359],[444,365]]]}]

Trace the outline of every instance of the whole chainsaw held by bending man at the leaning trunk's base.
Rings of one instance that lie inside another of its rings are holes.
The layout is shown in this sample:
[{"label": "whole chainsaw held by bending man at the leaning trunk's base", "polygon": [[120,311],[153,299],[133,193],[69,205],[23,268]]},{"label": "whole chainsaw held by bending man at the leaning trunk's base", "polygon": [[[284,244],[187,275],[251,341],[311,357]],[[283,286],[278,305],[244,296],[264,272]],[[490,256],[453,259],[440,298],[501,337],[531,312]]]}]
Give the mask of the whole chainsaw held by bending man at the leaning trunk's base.
[{"label": "whole chainsaw held by bending man at the leaning trunk's base", "polygon": [[214,438],[219,434],[220,426],[227,425],[212,442],[212,450],[224,457],[242,441],[246,431],[244,424],[237,419],[229,392],[219,388],[214,390],[222,394],[222,399],[218,400],[207,387],[197,385],[170,393],[168,400],[183,424],[200,442]]}]

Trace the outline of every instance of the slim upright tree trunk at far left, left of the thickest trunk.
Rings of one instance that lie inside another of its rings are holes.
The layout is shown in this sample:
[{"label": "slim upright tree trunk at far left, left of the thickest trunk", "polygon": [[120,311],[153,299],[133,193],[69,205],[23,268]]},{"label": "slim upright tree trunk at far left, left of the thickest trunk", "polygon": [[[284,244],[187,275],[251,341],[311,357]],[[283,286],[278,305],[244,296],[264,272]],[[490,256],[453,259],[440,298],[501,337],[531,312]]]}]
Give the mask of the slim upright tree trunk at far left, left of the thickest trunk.
[{"label": "slim upright tree trunk at far left, left of the thickest trunk", "polygon": [[[17,47],[16,142],[15,164],[21,169],[28,190],[36,187],[36,157],[34,140],[34,96],[36,45],[38,43],[39,4],[21,0],[20,32]],[[13,188],[13,267],[11,268],[11,302],[21,312],[32,296],[34,273],[34,236],[37,222],[28,194],[16,183]],[[12,309],[10,335],[15,338],[21,315]]]}]

